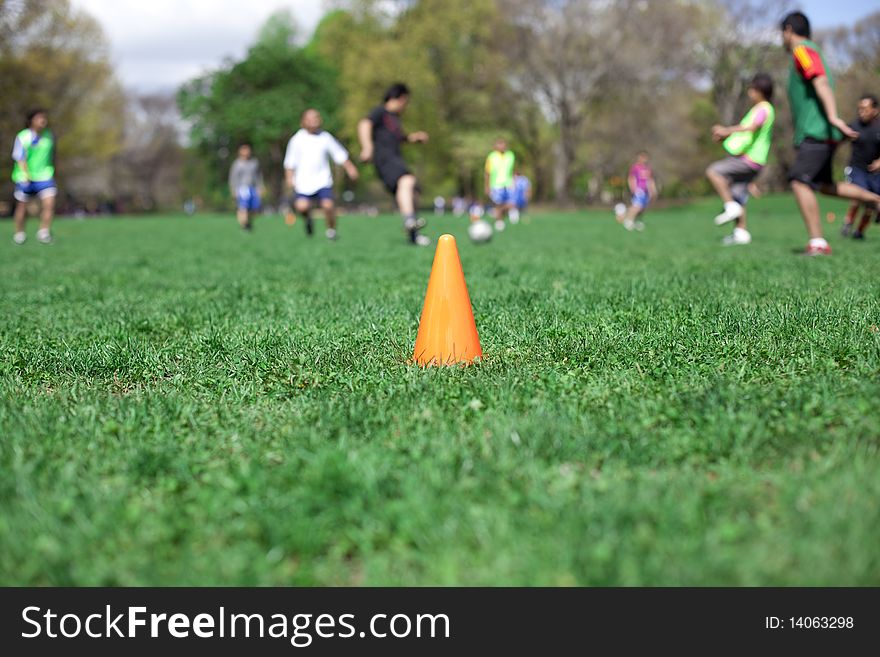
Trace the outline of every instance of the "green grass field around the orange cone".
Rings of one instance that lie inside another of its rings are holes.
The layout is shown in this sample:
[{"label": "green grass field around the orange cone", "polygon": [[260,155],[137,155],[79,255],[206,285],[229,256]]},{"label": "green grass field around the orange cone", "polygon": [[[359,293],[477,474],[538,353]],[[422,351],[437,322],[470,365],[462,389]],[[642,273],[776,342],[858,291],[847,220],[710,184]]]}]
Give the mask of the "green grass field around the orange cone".
[{"label": "green grass field around the orange cone", "polygon": [[486,358],[428,370],[396,219],[2,224],[0,583],[880,585],[880,229],[716,210],[434,221]]}]

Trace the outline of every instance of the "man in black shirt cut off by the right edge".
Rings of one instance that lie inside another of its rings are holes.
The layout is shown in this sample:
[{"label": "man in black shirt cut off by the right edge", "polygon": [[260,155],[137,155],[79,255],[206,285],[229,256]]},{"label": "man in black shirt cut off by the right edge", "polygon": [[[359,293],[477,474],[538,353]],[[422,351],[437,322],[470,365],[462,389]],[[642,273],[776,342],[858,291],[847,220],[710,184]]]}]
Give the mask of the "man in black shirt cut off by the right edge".
[{"label": "man in black shirt cut off by the right edge", "polygon": [[[877,97],[863,94],[859,100],[859,118],[850,124],[850,128],[859,133],[853,141],[852,156],[846,169],[846,179],[862,189],[880,194],[880,108]],[[853,232],[853,224],[859,211],[859,203],[853,203],[846,213],[846,223],[841,234],[852,233],[853,239],[865,239],[865,230],[871,218],[877,213],[873,206],[864,206],[862,221]]]}]

